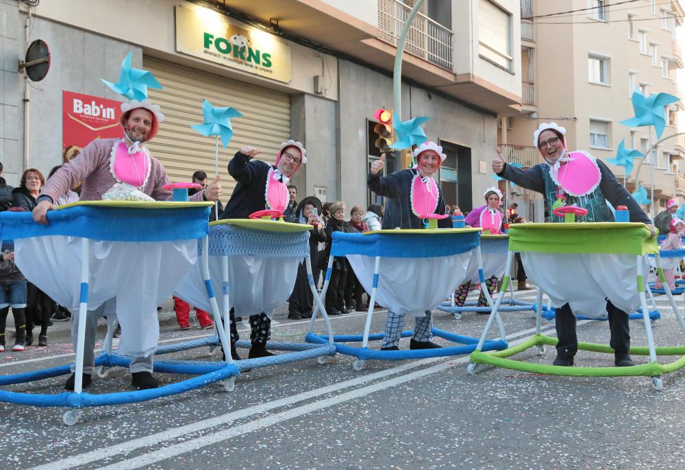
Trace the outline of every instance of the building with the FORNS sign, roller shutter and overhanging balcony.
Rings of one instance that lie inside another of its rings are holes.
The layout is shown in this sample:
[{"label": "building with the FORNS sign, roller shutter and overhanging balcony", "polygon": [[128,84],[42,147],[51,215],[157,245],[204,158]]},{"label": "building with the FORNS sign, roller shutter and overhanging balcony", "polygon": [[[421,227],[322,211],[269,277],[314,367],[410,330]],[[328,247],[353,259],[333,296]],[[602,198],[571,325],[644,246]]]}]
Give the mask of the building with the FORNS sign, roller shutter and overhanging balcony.
[{"label": "building with the FORNS sign, roller shutter and overhanging balcony", "polygon": [[[214,139],[190,129],[202,122],[206,98],[243,114],[232,119],[227,149],[220,147],[228,193],[226,163],[238,148],[255,145],[273,160],[279,143],[292,137],[308,149],[308,164],[294,178],[300,195],[349,205],[375,201],[366,190],[369,163],[379,158],[373,112],[393,107],[397,40],[413,1],[32,3],[0,0],[0,161],[10,184],[27,166],[47,172],[62,162],[65,122],[78,119],[69,115],[66,94],[121,99],[99,79],[116,81],[133,51],[133,66],[153,72],[163,86],[149,92],[167,118],[149,148],[172,180],[214,172]],[[519,14],[516,0],[428,0],[408,36],[401,116],[432,118],[425,132],[448,156],[440,184],[448,203],[465,210],[482,203],[493,184],[488,167],[498,116],[521,105]],[[24,124],[16,64],[37,38],[50,47],[51,69],[30,84]],[[399,162],[389,158],[386,171],[393,169]]]}]

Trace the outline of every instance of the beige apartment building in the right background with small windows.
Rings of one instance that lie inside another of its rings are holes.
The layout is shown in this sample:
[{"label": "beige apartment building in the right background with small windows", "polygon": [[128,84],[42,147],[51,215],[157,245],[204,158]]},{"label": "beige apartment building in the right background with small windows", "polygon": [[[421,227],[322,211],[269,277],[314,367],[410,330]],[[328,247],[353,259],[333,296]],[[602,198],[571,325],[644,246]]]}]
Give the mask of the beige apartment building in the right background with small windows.
[{"label": "beige apartment building in the right background with small windows", "polygon": [[[616,3],[616,5],[610,5]],[[684,12],[678,0],[522,0],[521,1],[521,114],[502,119],[499,143],[512,161],[523,166],[540,162],[532,147],[539,123],[556,121],[566,127],[569,149],[586,149],[607,162],[625,147],[646,155],[638,179],[656,201],[659,212],[668,199],[685,197],[680,168],[685,147],[682,136],[669,138],[656,148],[647,127],[625,127],[619,121],[633,116],[631,95],[667,92],[682,97],[677,71],[683,69],[676,29]],[[560,14],[560,12],[566,12]],[[527,19],[530,18],[530,19]],[[662,137],[677,134],[682,103],[667,109]],[[651,151],[649,151],[651,149]],[[636,168],[626,178],[636,188]],[[619,180],[625,169],[610,165]],[[512,190],[519,212],[536,221],[544,217],[543,201],[521,188]]]}]

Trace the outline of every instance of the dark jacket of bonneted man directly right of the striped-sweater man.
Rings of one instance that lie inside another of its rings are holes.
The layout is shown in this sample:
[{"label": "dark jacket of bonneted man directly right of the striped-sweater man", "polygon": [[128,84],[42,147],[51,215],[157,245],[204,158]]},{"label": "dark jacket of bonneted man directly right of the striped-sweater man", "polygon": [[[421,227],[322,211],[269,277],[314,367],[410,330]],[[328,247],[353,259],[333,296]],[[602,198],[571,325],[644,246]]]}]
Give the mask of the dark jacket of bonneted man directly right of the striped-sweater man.
[{"label": "dark jacket of bonneted man directly right of the striped-sweater man", "polygon": [[275,166],[250,160],[250,156],[238,151],[228,163],[228,173],[238,184],[219,219],[247,219],[253,212],[266,208],[266,175]]}]

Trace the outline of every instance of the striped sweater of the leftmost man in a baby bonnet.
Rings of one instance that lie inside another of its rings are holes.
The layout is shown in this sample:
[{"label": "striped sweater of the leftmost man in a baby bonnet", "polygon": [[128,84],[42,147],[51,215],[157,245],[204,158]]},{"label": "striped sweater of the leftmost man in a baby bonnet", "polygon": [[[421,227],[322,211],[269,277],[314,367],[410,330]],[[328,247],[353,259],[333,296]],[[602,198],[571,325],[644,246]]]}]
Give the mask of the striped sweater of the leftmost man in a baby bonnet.
[{"label": "striped sweater of the leftmost man in a baby bonnet", "polygon": [[[110,157],[112,147],[119,142],[119,138],[103,138],[93,140],[86,145],[79,155],[69,164],[62,166],[43,186],[41,195],[48,195],[53,201],[64,195],[79,181],[84,182],[81,188],[82,201],[99,201],[116,180],[110,171]],[[171,201],[171,191],[162,186],[169,183],[166,170],[159,160],[150,156],[150,176],[145,186],[140,188],[143,193],[157,201]],[[203,191],[190,197],[190,201],[203,201]]]}]

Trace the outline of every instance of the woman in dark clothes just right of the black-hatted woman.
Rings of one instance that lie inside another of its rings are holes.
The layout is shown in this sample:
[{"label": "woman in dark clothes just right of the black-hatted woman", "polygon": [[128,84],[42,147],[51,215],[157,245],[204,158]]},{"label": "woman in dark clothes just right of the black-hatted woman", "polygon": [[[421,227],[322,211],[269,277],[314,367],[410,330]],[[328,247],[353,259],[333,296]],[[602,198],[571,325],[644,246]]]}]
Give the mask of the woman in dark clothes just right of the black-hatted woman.
[{"label": "woman in dark clothes just right of the black-hatted woman", "polygon": [[[328,264],[331,256],[331,244],[333,232],[348,232],[349,227],[345,218],[345,203],[336,201],[330,206],[331,218],[326,225],[325,260]],[[347,260],[344,256],[336,256],[333,260],[331,279],[328,282],[326,292],[326,312],[329,315],[349,313],[345,309],[345,284],[347,284]]]}]

